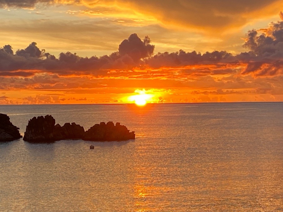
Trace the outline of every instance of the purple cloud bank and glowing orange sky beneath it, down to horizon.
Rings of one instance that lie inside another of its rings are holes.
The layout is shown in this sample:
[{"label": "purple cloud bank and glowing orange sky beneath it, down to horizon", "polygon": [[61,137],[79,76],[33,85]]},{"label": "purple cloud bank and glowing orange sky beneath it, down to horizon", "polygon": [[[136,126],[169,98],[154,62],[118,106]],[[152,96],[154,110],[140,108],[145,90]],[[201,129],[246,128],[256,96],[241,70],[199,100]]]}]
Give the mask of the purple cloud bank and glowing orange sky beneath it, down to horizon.
[{"label": "purple cloud bank and glowing orange sky beneath it, down to horizon", "polygon": [[131,34],[110,55],[56,58],[36,42],[5,45],[0,104],[132,103],[137,93],[153,103],[283,101],[283,21],[248,31],[243,46],[239,54],[154,54],[148,36]]}]

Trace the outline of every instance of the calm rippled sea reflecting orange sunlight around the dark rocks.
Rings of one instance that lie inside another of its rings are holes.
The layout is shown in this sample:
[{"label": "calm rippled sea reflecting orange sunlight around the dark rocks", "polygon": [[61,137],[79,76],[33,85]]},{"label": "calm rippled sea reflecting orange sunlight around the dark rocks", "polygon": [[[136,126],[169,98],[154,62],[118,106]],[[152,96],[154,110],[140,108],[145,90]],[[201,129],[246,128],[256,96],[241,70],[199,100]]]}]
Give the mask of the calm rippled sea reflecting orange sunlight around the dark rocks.
[{"label": "calm rippled sea reflecting orange sunlight around the dark rocks", "polygon": [[[0,211],[283,211],[283,103],[0,106],[136,139],[0,143]],[[89,149],[90,145],[95,149]]]}]

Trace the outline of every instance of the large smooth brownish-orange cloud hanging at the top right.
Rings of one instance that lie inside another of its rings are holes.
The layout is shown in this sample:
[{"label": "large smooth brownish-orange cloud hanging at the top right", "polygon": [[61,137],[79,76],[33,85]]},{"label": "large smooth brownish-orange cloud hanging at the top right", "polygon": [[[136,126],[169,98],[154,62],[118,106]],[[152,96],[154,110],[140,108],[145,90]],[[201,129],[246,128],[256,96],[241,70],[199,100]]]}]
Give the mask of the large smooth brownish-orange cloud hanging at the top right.
[{"label": "large smooth brownish-orange cloud hanging at the top right", "polygon": [[[220,30],[241,27],[250,19],[262,18],[278,13],[282,7],[280,0],[82,0],[89,8],[125,8],[141,16],[153,16],[161,24],[193,27],[199,30]],[[264,13],[263,13],[264,11]]]}]

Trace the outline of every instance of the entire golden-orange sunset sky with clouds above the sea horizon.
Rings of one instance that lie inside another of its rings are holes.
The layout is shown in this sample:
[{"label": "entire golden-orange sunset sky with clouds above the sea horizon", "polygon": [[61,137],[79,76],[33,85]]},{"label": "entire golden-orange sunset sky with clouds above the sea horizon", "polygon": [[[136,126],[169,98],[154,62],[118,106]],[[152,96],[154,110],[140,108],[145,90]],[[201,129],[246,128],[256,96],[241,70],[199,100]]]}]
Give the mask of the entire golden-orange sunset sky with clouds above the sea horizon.
[{"label": "entire golden-orange sunset sky with clouds above the sea horizon", "polygon": [[283,101],[282,11],[282,0],[0,0],[0,104]]}]

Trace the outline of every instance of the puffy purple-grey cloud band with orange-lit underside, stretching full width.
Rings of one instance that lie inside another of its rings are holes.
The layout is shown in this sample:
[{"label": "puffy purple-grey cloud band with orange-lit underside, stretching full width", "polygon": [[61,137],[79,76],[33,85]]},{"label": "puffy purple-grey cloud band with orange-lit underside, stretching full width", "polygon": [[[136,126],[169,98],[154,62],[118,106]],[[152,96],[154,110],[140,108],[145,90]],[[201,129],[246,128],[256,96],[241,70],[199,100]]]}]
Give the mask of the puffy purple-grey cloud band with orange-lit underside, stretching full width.
[{"label": "puffy purple-grey cloud band with orange-lit underside, stretching full width", "polygon": [[[12,46],[5,45],[0,48],[0,76],[29,77],[37,72],[49,72],[59,76],[108,75],[174,79],[181,76],[232,74],[239,70],[243,75],[253,76],[283,74],[283,21],[271,23],[260,35],[258,30],[248,31],[243,46],[248,52],[237,55],[226,51],[201,54],[183,50],[153,55],[155,46],[150,44],[149,37],[141,40],[138,35],[132,34],[121,42],[117,52],[110,55],[80,57],[76,53],[62,52],[56,58],[44,49],[40,50],[35,42],[17,51]],[[160,68],[164,69],[161,71]]]}]

